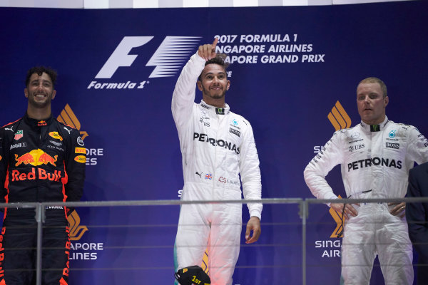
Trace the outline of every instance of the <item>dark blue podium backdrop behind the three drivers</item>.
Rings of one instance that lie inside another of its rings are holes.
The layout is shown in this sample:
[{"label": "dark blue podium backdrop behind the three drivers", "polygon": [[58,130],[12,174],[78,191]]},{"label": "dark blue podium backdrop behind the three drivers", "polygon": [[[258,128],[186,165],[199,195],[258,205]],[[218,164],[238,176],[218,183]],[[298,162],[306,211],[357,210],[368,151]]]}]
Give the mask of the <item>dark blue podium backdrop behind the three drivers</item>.
[{"label": "dark blue podium backdrop behind the three drivers", "polygon": [[[335,125],[359,123],[355,90],[362,78],[376,76],[387,84],[390,120],[428,134],[426,11],[422,1],[1,8],[0,124],[26,110],[26,71],[52,66],[58,71],[53,113],[81,130],[88,148],[83,200],[178,199],[183,176],[170,99],[188,58],[219,36],[218,48],[233,61],[226,102],[253,125],[263,197],[312,197],[302,172]],[[327,180],[344,196],[338,167]],[[178,207],[77,212],[70,284],[172,284]],[[296,205],[265,205],[263,234],[258,244],[241,248],[234,284],[302,282],[297,213]],[[339,283],[341,239],[330,238],[335,227],[325,205],[310,208],[307,284]],[[376,267],[372,284],[382,280]]]}]

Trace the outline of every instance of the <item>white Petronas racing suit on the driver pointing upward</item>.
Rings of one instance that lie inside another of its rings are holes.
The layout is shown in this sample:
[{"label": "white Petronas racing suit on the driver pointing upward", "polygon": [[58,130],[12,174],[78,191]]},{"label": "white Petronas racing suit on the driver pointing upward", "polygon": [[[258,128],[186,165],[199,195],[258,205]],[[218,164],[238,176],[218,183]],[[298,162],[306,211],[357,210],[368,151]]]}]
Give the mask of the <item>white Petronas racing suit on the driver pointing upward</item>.
[{"label": "white Petronas racing suit on the driver pointing upward", "polygon": [[[205,60],[193,55],[178,78],[172,111],[183,157],[182,200],[261,198],[258,153],[250,123],[230,112],[195,103],[195,83]],[[239,178],[240,175],[240,178]],[[248,204],[260,219],[262,204]],[[177,269],[202,264],[208,245],[213,285],[232,284],[240,249],[241,204],[183,204],[180,208],[175,254]]]}]

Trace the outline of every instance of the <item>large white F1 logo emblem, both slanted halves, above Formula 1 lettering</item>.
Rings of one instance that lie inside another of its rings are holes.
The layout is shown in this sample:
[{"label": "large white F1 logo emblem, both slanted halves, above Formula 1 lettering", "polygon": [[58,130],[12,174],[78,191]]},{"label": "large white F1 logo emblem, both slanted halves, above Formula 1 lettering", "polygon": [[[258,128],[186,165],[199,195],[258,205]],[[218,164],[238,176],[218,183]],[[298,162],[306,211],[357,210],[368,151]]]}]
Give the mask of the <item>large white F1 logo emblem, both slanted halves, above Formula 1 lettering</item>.
[{"label": "large white F1 logo emblem, both slanted halves, above Formula 1 lettering", "polygon": [[[138,55],[129,54],[131,49],[143,46],[153,36],[125,36],[111,53],[95,78],[111,78],[121,66],[131,66]],[[185,63],[185,56],[195,51],[200,36],[165,36],[146,66],[156,66],[150,78],[174,76]]]}]

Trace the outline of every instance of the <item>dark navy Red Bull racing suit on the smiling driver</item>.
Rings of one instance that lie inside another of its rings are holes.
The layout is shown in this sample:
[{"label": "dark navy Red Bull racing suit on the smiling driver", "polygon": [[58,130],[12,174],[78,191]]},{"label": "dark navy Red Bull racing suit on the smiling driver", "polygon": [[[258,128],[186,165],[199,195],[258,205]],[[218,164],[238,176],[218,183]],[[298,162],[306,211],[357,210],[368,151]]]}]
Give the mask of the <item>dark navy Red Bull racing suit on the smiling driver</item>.
[{"label": "dark navy Red Bull racing suit on the smiling driver", "polygon": [[[24,115],[0,128],[0,202],[78,201],[83,190],[85,163],[86,149],[78,130],[52,117],[34,120]],[[42,269],[51,270],[43,271],[43,284],[68,282],[67,211],[63,207],[46,208]],[[35,284],[37,224],[34,217],[34,208],[4,209],[0,284]]]}]

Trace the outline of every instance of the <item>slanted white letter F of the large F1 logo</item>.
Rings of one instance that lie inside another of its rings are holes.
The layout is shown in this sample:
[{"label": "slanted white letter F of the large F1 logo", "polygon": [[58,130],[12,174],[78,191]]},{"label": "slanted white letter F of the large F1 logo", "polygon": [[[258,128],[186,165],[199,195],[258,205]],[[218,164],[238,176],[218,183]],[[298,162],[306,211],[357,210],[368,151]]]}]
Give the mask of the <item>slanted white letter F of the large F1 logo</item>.
[{"label": "slanted white letter F of the large F1 logo", "polygon": [[133,61],[136,60],[137,55],[128,54],[131,49],[143,46],[153,36],[125,36],[117,48],[111,53],[110,58],[104,63],[104,66],[95,76],[95,78],[111,78],[120,66],[131,66]]}]

